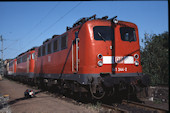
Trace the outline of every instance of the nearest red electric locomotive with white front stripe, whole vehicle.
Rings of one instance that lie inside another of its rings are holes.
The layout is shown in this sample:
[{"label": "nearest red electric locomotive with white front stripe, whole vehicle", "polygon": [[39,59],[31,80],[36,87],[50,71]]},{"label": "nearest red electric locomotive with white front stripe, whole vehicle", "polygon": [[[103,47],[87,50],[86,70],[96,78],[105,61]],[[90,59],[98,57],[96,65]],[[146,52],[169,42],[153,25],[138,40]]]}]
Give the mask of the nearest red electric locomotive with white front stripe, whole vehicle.
[{"label": "nearest red electric locomotive with white front stripe, whole vehicle", "polygon": [[46,40],[35,50],[35,76],[61,89],[90,91],[96,99],[114,94],[115,89],[130,86],[137,92],[147,86],[137,26],[107,18],[82,18],[67,32]]}]

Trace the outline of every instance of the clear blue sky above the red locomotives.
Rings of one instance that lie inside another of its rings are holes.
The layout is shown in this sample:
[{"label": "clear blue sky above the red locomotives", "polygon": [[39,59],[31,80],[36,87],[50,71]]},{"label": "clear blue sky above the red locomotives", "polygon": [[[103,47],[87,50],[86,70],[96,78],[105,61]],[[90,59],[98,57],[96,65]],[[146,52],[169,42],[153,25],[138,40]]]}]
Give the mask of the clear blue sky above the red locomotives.
[{"label": "clear blue sky above the red locomotives", "polygon": [[168,1],[0,2],[3,59],[13,59],[40,46],[53,35],[66,32],[66,27],[80,18],[94,14],[97,18],[117,16],[118,20],[135,23],[141,46],[145,33],[158,35],[169,31]]}]

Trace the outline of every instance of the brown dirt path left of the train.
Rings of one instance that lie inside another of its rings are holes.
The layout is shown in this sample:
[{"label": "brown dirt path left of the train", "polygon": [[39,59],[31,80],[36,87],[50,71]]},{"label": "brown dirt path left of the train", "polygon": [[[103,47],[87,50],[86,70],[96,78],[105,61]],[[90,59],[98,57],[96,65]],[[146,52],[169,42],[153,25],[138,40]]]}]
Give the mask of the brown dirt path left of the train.
[{"label": "brown dirt path left of the train", "polygon": [[37,92],[35,98],[25,99],[26,89],[32,88],[7,79],[0,81],[0,94],[9,95],[8,105],[12,113],[97,113],[94,109],[68,103],[36,89],[33,89]]}]

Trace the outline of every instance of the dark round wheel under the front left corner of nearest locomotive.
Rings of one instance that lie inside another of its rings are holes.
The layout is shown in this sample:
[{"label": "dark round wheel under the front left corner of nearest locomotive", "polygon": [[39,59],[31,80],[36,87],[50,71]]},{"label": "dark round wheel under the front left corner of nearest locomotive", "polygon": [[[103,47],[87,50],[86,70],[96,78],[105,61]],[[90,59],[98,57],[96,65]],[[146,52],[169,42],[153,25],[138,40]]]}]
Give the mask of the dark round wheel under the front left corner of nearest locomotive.
[{"label": "dark round wheel under the front left corner of nearest locomotive", "polygon": [[93,84],[90,84],[90,93],[93,98],[95,99],[102,99],[105,96],[105,91],[101,85],[95,86],[95,93],[94,93],[94,86]]}]

